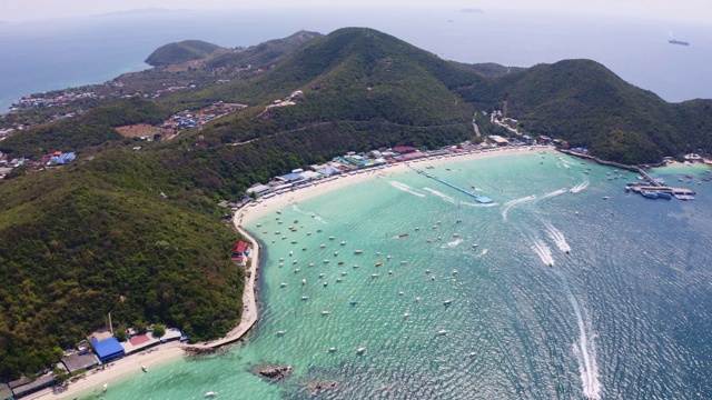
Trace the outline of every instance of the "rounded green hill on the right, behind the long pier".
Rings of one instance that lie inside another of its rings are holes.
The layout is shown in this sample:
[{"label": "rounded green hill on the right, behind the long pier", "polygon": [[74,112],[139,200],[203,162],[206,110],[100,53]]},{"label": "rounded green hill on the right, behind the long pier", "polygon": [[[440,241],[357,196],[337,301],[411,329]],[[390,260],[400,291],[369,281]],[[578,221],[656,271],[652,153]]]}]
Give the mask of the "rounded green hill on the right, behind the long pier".
[{"label": "rounded green hill on the right, behind the long pier", "polygon": [[[653,163],[689,149],[712,149],[710,100],[671,104],[590,60],[538,64],[459,92],[502,109],[534,134],[567,139],[602,158]],[[688,148],[690,146],[690,148]]]}]

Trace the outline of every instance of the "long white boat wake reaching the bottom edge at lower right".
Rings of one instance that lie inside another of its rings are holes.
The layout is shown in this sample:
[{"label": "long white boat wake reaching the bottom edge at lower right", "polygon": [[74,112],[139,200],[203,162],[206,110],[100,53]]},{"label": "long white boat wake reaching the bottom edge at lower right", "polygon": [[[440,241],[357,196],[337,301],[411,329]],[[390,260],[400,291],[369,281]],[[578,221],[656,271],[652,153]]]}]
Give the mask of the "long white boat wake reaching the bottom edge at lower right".
[{"label": "long white boat wake reaching the bottom edge at lower right", "polygon": [[[578,342],[572,344],[574,354],[578,360],[578,372],[581,372],[581,383],[583,386],[583,396],[586,399],[601,399],[603,387],[599,381],[599,364],[596,363],[596,348],[594,344],[595,336],[589,338],[586,330],[591,331],[591,321],[584,318],[578,308],[576,298],[568,292],[568,301],[576,313],[576,323],[578,324]],[[584,310],[585,312],[585,310]]]}]

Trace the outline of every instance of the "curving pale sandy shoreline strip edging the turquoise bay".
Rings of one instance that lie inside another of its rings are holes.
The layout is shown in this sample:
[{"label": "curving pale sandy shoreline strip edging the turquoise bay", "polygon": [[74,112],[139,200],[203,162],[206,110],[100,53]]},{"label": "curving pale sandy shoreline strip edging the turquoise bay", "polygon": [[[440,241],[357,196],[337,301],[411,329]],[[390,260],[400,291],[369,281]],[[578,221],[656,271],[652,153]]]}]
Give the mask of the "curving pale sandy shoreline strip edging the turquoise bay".
[{"label": "curving pale sandy shoreline strip edging the turquoise bay", "polygon": [[[483,152],[459,153],[449,157],[418,159],[411,161],[419,167],[441,166],[456,162],[457,160],[474,160],[483,158],[525,154],[535,150],[555,150],[553,147],[523,147],[523,148],[497,148]],[[244,228],[244,224],[259,219],[269,212],[274,212],[284,207],[298,203],[300,201],[312,199],[322,196],[334,190],[344,189],[348,186],[368,181],[370,179],[387,177],[394,173],[412,172],[406,162],[399,162],[390,164],[384,169],[370,169],[362,170],[362,173],[342,174],[328,180],[319,181],[310,187],[303,188],[296,191],[281,193],[270,199],[264,200],[260,203],[254,203],[254,206],[247,206],[235,212],[233,223],[235,228],[247,240],[250,241],[253,248],[250,269],[248,270],[249,277],[245,282],[245,291],[243,293],[243,319],[225,337],[197,344],[185,344],[180,342],[170,342],[160,344],[138,354],[130,354],[123,357],[117,361],[110,362],[107,369],[95,369],[88,372],[85,378],[71,383],[67,387],[67,390],[55,393],[52,389],[46,389],[40,392],[28,396],[28,399],[37,399],[42,397],[50,397],[57,399],[76,398],[79,394],[89,394],[91,390],[101,388],[105,383],[111,386],[112,381],[127,377],[131,373],[141,373],[141,367],[146,366],[150,373],[151,367],[162,364],[185,356],[185,349],[214,349],[229,343],[234,343],[245,337],[251,328],[259,320],[257,310],[257,293],[256,284],[259,279],[259,263],[260,263],[260,248],[258,241]]]}]

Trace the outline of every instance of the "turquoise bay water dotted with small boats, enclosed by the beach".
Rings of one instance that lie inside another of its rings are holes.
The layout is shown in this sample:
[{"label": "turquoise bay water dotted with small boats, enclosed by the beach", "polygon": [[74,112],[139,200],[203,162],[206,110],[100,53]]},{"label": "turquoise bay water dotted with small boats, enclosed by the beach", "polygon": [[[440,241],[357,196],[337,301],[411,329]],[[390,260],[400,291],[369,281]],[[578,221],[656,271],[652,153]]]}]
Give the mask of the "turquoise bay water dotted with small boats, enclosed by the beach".
[{"label": "turquoise bay water dotted with small boats, enclosed by the beach", "polygon": [[[316,382],[337,382],[326,399],[712,398],[706,169],[654,171],[696,190],[684,202],[552,151],[452,161],[431,172],[496,203],[385,170],[250,222],[265,257],[246,343],[106,399],[306,399]],[[260,364],[294,372],[270,383]]]}]

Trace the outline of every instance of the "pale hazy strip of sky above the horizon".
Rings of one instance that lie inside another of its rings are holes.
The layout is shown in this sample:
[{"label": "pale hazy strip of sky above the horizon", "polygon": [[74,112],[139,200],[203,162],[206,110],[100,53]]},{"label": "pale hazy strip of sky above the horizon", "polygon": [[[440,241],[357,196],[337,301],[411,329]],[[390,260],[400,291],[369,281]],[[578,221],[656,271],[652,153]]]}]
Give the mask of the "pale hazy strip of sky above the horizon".
[{"label": "pale hazy strip of sky above the horizon", "polygon": [[[21,22],[50,18],[87,17],[93,14],[147,8],[180,10],[217,10],[257,8],[244,0],[3,0],[0,21]],[[712,23],[710,0],[269,0],[269,8],[438,8],[462,10],[517,9],[557,12],[615,14],[669,21]],[[264,8],[263,8],[264,9]]]}]

